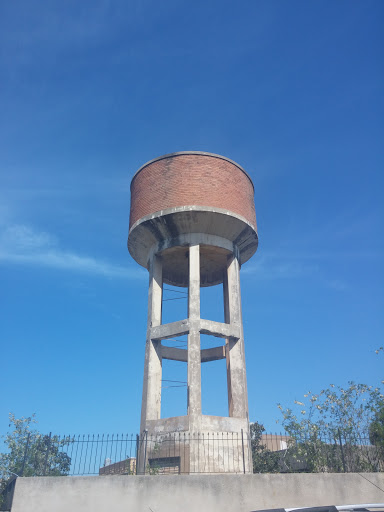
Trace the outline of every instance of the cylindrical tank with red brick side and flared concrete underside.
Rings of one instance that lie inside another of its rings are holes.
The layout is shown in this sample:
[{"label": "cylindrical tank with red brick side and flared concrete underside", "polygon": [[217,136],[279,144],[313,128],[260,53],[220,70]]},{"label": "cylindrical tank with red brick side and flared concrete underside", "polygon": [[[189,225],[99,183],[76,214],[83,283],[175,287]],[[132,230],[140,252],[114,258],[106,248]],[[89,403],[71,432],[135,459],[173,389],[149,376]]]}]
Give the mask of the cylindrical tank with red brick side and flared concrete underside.
[{"label": "cylindrical tank with red brick side and flared concrete underside", "polygon": [[257,249],[253,196],[251,178],[223,156],[182,151],[155,158],[132,179],[129,252],[148,268],[151,251],[167,251],[164,282],[187,286],[188,236],[215,236],[233,244],[202,246],[201,285],[218,284],[228,251],[242,264]]}]

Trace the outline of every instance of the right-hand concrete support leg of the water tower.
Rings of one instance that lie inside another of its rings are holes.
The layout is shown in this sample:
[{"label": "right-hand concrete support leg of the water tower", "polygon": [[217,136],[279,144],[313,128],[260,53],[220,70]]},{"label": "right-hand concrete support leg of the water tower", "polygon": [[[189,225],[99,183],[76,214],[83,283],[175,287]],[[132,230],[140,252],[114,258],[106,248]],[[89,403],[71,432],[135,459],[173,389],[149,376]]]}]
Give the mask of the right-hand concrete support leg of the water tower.
[{"label": "right-hand concrete support leg of the water tower", "polygon": [[227,382],[229,416],[248,419],[247,382],[244,358],[244,339],[241,321],[240,266],[235,255],[228,259],[224,276],[225,322],[240,329],[238,340],[227,339]]}]

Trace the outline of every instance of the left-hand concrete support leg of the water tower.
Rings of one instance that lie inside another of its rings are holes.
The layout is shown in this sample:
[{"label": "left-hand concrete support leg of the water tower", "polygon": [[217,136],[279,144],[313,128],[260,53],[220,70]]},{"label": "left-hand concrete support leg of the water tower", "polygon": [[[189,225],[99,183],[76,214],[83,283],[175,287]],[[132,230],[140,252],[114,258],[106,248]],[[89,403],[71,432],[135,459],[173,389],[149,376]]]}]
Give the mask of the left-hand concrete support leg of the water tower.
[{"label": "left-hand concrete support leg of the water tower", "polygon": [[161,324],[163,293],[162,262],[154,255],[149,264],[148,322],[145,347],[141,434],[147,420],[160,419],[161,413],[161,342],[151,340],[151,328]]}]

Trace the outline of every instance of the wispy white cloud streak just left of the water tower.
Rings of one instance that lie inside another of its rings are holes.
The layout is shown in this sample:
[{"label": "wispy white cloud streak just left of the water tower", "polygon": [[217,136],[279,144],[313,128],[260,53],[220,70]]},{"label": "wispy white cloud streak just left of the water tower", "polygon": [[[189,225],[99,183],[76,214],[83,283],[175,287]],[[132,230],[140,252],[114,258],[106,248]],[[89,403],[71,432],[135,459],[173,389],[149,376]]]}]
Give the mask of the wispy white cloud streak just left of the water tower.
[{"label": "wispy white cloud streak just left of the water tower", "polygon": [[139,268],[130,269],[60,248],[58,240],[30,226],[0,227],[0,263],[35,265],[109,278],[141,278]]}]

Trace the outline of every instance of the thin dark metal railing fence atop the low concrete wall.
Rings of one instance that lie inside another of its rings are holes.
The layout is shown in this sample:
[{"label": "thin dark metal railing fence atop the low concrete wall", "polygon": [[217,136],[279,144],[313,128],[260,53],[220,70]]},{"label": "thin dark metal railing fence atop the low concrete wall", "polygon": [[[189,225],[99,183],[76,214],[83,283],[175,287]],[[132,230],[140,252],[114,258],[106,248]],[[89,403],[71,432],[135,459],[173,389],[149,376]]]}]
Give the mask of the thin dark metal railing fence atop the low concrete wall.
[{"label": "thin dark metal railing fence atop the low concrete wall", "polygon": [[29,434],[10,469],[19,476],[383,471],[384,447],[340,433],[299,440],[288,434],[254,440],[247,432]]}]

